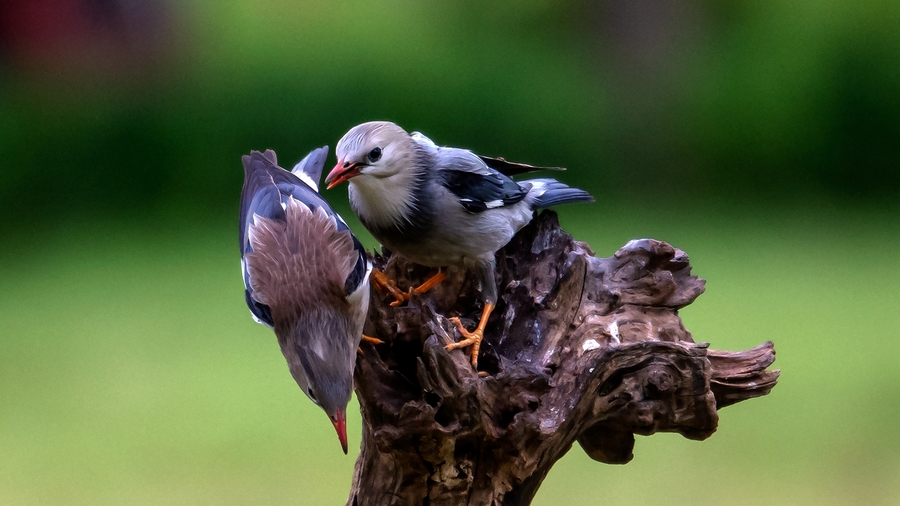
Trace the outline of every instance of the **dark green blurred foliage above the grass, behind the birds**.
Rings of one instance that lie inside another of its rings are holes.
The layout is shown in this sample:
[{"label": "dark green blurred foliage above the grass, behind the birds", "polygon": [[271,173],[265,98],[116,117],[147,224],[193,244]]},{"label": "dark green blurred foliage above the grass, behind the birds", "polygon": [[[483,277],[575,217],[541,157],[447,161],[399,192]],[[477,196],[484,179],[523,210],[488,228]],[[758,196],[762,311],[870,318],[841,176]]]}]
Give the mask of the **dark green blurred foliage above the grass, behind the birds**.
[{"label": "dark green blurred foliage above the grass, behind the birds", "polygon": [[634,5],[173,6],[143,66],[6,62],[0,206],[232,212],[240,154],[288,165],[372,119],[606,199],[635,175],[673,201],[900,195],[891,2]]}]

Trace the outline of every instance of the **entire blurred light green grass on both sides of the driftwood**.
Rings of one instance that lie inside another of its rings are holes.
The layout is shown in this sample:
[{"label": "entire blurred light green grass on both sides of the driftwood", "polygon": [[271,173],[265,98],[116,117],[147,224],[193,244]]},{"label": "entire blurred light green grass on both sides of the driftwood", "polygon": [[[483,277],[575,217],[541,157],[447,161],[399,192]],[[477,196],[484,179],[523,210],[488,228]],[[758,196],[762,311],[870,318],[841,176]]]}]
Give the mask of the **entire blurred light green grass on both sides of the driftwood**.
[{"label": "entire blurred light green grass on both sides of the driftwood", "polygon": [[[599,255],[642,236],[687,251],[708,280],[682,311],[695,339],[732,350],[771,339],[783,372],[770,396],[723,410],[706,442],[639,438],[625,466],[576,446],[535,504],[896,503],[896,213],[601,201],[561,219]],[[234,232],[231,219],[169,216],[8,236],[0,504],[346,500],[354,455],[250,320]]]}]

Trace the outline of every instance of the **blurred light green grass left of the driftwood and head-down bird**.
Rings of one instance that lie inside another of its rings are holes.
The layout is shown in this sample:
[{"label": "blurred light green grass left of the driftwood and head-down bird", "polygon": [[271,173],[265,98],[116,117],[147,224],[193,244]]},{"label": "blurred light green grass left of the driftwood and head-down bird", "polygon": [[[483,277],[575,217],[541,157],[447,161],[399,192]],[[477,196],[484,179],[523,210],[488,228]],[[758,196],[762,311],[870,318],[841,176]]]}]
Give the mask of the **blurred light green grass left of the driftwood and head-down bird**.
[{"label": "blurred light green grass left of the driftwood and head-down bird", "polygon": [[353,460],[248,320],[234,236],[99,223],[3,259],[0,503],[335,502]]}]

